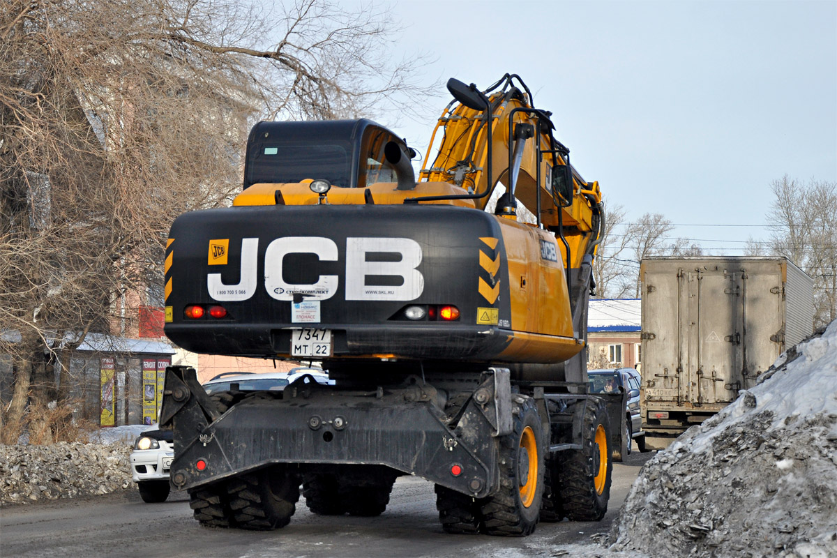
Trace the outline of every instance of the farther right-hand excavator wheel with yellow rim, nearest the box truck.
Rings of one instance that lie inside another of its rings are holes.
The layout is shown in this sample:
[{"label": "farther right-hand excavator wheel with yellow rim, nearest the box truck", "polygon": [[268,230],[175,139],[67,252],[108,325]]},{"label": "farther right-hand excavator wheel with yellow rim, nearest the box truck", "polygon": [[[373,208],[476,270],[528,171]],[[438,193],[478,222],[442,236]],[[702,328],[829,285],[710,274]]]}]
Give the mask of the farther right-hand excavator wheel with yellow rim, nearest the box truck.
[{"label": "farther right-hand excavator wheel with yellow rim, nearest the box truck", "polygon": [[608,511],[613,471],[607,408],[597,398],[583,405],[582,449],[558,452],[563,511],[574,521],[598,521]]}]

